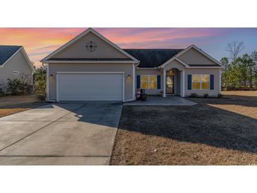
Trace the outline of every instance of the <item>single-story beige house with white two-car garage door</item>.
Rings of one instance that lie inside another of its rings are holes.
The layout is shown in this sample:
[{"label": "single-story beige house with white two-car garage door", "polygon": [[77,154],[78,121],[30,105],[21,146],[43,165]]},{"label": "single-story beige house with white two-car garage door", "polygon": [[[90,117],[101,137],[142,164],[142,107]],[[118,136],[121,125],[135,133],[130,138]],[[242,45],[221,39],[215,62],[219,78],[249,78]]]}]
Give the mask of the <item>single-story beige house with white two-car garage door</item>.
[{"label": "single-story beige house with white two-car garage door", "polygon": [[42,59],[49,101],[132,101],[146,94],[220,94],[221,64],[187,49],[120,49],[92,28]]}]

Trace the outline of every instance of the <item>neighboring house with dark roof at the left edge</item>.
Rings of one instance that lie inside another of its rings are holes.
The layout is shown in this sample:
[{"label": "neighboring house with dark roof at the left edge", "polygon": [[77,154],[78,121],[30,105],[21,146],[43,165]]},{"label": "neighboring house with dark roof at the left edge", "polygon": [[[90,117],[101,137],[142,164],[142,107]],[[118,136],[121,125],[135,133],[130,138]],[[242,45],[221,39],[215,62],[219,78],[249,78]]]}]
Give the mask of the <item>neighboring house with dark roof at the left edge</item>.
[{"label": "neighboring house with dark roof at the left edge", "polygon": [[33,84],[35,69],[23,46],[0,45],[0,85],[5,87],[7,79],[15,79],[24,75]]}]

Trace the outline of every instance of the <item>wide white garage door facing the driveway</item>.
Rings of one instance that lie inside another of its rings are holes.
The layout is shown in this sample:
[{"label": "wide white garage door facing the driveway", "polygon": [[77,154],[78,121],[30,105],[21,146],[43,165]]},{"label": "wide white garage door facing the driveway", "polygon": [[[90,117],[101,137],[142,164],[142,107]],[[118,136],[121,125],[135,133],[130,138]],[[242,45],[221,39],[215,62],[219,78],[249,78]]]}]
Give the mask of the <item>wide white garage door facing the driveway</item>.
[{"label": "wide white garage door facing the driveway", "polygon": [[122,73],[58,73],[57,101],[123,101]]}]

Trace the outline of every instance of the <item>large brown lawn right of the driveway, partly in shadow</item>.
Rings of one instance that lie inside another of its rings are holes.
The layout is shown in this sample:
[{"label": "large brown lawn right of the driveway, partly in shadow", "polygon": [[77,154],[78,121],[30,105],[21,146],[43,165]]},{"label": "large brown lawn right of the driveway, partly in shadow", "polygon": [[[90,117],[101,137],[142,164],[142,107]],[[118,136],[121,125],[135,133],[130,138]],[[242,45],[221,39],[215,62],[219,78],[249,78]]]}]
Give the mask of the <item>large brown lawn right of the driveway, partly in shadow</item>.
[{"label": "large brown lawn right of the driveway, partly in shadow", "polygon": [[111,165],[257,165],[257,92],[124,106]]}]

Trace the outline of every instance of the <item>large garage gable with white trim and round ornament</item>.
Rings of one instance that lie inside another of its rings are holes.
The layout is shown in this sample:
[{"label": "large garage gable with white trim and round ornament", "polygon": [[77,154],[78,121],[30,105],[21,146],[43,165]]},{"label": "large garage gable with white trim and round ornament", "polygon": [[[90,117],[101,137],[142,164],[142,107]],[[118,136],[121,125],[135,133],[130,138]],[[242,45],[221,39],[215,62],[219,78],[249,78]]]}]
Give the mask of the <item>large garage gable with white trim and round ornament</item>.
[{"label": "large garage gable with white trim and round ornament", "polygon": [[[90,50],[93,45],[94,50]],[[137,59],[101,36],[92,28],[87,29],[67,44],[46,56],[42,61],[134,61]]]}]

